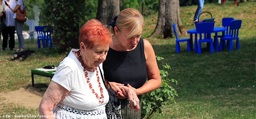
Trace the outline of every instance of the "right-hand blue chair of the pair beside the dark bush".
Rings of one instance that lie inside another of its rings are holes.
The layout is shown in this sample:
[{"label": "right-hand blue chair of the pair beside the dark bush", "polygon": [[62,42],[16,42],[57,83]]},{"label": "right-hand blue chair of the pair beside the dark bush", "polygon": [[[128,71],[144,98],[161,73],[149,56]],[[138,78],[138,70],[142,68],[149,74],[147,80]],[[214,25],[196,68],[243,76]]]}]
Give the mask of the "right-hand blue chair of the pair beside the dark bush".
[{"label": "right-hand blue chair of the pair beside the dark bush", "polygon": [[[53,41],[52,41],[52,32],[53,28],[51,26],[43,26],[43,39],[46,41],[46,46],[48,48],[48,43],[50,43],[50,47],[53,47]],[[45,44],[43,43],[43,48],[45,48]]]}]

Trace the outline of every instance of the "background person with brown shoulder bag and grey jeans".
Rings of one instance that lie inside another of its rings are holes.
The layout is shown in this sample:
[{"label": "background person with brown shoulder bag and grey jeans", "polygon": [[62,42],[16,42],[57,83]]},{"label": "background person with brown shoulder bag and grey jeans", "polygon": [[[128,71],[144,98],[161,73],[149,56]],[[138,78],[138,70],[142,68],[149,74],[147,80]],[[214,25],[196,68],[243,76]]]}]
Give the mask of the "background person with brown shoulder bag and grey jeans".
[{"label": "background person with brown shoulder bag and grey jeans", "polygon": [[[18,9],[25,10],[24,9],[25,2],[24,2],[24,0],[18,0],[17,5],[15,6],[14,9],[12,9],[10,5],[8,5],[8,7],[12,10],[13,13],[16,13]],[[16,14],[14,14],[13,18],[16,19]],[[19,21],[15,20],[15,28],[17,31],[18,41],[19,41],[19,48],[16,51],[24,51],[25,46],[24,46],[24,38],[22,35],[23,24],[24,24],[24,22],[19,22]]]}]

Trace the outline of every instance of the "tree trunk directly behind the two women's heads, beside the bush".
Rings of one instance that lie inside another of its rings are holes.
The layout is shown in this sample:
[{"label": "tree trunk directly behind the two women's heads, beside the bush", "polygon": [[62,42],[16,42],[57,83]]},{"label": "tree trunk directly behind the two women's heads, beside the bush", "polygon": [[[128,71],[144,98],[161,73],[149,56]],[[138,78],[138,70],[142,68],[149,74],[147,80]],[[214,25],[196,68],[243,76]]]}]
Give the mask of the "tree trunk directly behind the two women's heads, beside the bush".
[{"label": "tree trunk directly behind the two women's heads, beside the bush", "polygon": [[109,24],[120,13],[119,0],[99,0],[96,19]]}]

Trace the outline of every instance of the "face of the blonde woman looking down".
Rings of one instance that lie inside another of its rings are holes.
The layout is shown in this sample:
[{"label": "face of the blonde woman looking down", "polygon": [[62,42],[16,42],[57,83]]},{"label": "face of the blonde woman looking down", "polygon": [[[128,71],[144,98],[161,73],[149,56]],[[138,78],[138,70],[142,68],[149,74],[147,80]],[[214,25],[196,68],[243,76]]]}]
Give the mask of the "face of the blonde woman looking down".
[{"label": "face of the blonde woman looking down", "polygon": [[129,31],[122,31],[119,35],[119,39],[120,39],[122,46],[125,49],[132,50],[137,46],[138,42],[140,41],[142,31],[130,38],[126,37],[127,33],[129,33]]}]

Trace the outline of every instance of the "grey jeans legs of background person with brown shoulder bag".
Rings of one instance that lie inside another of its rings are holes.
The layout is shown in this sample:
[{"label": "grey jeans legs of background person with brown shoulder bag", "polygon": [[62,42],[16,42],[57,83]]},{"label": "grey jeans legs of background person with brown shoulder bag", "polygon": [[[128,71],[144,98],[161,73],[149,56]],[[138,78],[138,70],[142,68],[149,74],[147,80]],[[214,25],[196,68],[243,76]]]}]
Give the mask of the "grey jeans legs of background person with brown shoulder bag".
[{"label": "grey jeans legs of background person with brown shoulder bag", "polygon": [[19,48],[24,49],[24,38],[22,35],[23,24],[24,24],[24,22],[19,22],[19,21],[15,20],[15,27],[16,27],[16,31],[17,31],[17,35],[18,35]]}]

